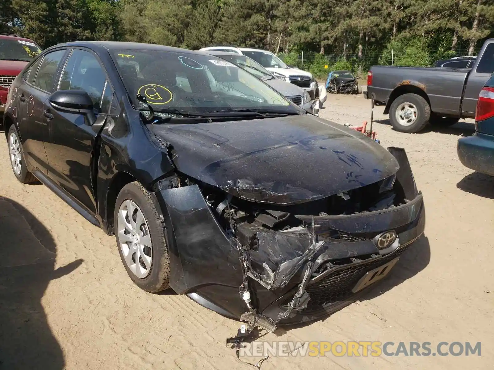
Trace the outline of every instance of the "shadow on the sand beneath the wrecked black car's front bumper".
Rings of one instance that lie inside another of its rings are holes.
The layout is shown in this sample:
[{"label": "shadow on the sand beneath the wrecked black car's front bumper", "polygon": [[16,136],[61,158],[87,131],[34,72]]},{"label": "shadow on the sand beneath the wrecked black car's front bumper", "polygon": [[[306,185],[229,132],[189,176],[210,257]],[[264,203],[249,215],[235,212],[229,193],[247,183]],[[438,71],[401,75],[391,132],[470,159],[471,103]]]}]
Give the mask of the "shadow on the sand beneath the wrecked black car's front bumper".
[{"label": "shadow on the sand beneath the wrecked black car's front bumper", "polygon": [[[362,293],[354,296],[354,299],[351,302],[349,302],[346,306],[339,308],[337,311],[345,309],[354,302],[370,300],[385,294],[404,281],[413,278],[413,276],[418,274],[429,264],[431,257],[430,252],[429,239],[422,235],[405,252],[402,253],[396,265],[384,279],[376,282]],[[397,303],[397,305],[399,305],[399,303]],[[317,321],[326,321],[331,317],[331,315],[321,317],[321,319],[316,321],[279,327],[276,329],[275,334],[277,336],[282,336],[291,329],[303,328]]]}]

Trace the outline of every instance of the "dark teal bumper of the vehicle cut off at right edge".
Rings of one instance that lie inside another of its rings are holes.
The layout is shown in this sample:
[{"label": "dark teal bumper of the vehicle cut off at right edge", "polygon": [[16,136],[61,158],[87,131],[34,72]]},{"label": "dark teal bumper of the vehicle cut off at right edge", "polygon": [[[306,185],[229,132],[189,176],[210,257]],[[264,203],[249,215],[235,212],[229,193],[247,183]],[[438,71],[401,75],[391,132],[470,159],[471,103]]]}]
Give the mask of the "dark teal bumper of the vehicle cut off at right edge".
[{"label": "dark teal bumper of the vehicle cut off at right edge", "polygon": [[458,140],[460,162],[472,170],[494,176],[494,136],[476,132]]}]

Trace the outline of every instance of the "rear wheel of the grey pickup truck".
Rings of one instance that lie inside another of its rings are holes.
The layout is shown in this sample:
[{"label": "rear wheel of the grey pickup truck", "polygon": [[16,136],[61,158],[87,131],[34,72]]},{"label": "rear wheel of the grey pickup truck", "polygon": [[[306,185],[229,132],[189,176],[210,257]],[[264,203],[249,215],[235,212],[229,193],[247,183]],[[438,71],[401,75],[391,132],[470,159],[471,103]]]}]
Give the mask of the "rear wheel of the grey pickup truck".
[{"label": "rear wheel of the grey pickup truck", "polygon": [[417,94],[404,94],[396,98],[389,109],[389,120],[396,131],[414,133],[422,130],[431,109],[427,101]]}]

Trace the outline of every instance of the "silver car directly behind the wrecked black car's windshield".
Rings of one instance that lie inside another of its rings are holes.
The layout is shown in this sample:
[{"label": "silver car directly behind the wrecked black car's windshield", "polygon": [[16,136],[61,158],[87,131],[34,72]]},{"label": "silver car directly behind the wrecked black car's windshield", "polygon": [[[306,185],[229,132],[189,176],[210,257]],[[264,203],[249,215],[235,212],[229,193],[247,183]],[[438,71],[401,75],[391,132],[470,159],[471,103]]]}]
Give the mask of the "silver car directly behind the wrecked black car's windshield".
[{"label": "silver car directly behind the wrecked black car's windshield", "polygon": [[[247,57],[246,55],[234,54],[224,51],[207,50],[210,55],[225,59],[230,63],[246,70],[250,74],[253,74],[257,78],[266,82],[273,89],[283,94],[288,100],[294,104],[300,106],[302,109],[309,111],[313,114],[318,114],[320,105],[324,102],[319,102],[318,99],[311,100],[311,97],[307,90],[298,87],[292,83],[279,79],[271,72],[266,70],[263,66],[257,63],[255,60]],[[326,97],[326,96],[325,96]],[[326,100],[326,99],[324,99]]]}]

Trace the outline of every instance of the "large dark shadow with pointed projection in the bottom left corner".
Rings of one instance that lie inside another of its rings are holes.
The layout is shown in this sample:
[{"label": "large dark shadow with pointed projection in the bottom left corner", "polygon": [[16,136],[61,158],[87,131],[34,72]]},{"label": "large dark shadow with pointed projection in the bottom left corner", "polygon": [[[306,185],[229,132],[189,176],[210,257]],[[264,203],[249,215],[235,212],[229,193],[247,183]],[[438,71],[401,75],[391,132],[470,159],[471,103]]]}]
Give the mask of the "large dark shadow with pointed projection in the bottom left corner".
[{"label": "large dark shadow with pointed projection in the bottom left corner", "polygon": [[50,232],[17,202],[0,196],[0,369],[64,369],[41,298],[50,280],[70,274],[75,260],[55,269]]}]

